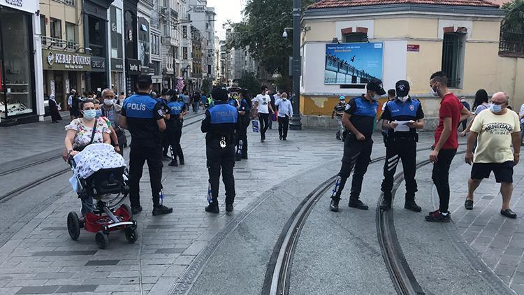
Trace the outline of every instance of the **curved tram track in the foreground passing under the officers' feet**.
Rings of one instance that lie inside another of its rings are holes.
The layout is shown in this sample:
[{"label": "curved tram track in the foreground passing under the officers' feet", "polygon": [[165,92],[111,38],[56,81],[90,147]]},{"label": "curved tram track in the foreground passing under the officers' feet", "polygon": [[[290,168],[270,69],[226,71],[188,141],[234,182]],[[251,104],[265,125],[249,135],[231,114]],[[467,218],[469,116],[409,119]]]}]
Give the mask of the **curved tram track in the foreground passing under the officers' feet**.
[{"label": "curved tram track in the foreground passing under the officers' feet", "polygon": [[[426,147],[417,150],[417,152],[430,150],[431,147]],[[465,151],[458,152],[463,154]],[[372,159],[370,164],[383,161],[386,157],[378,157]],[[427,164],[430,164],[429,160],[421,161],[416,165],[416,169],[419,169]],[[312,212],[314,206],[321,197],[328,192],[330,187],[333,186],[333,182],[337,178],[337,175],[333,175],[331,178],[322,182],[321,185],[316,187],[306,198],[300,203],[298,208],[293,212],[291,218],[284,226],[277,245],[270,259],[270,265],[268,266],[267,273],[265,275],[265,287],[263,294],[270,295],[284,295],[289,294],[289,285],[291,278],[291,268],[293,264],[293,255],[296,250],[298,238],[303,226],[307,222],[307,217]],[[392,194],[395,193],[400,187],[400,184],[404,180],[403,171],[400,171],[394,178],[394,186]],[[379,203],[377,206],[377,238],[381,248],[382,256],[388,273],[390,274],[395,291],[398,294],[424,294],[419,283],[416,281],[407,260],[404,257],[400,243],[398,242],[398,236],[395,231],[395,224],[393,222],[393,210],[382,211],[379,205],[384,195],[381,194],[379,197]]]}]

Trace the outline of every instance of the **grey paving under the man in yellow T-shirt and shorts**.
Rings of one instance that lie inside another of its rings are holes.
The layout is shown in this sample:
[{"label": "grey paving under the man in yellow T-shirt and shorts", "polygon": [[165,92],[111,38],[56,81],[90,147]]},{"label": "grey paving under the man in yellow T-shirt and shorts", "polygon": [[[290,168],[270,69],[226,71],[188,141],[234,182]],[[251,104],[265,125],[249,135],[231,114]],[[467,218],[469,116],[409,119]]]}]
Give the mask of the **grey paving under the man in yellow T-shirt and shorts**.
[{"label": "grey paving under the man in yellow T-shirt and shorts", "polygon": [[[456,161],[463,161],[464,155]],[[473,210],[465,210],[467,179],[471,166],[461,164],[451,175],[452,219],[458,231],[483,261],[518,294],[524,294],[524,166],[514,168],[514,192],[511,208],[515,220],[500,215],[502,195],[493,173],[483,180],[474,196]]]}]

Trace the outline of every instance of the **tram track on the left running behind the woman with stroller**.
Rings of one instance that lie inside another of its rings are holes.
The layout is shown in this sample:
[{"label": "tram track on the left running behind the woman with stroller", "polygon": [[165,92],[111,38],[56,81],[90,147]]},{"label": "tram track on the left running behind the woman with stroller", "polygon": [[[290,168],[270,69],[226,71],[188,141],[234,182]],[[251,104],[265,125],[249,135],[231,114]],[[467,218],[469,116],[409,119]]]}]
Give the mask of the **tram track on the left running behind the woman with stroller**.
[{"label": "tram track on the left running behind the woman with stroller", "polygon": [[[193,119],[195,117],[199,117],[199,114],[193,115],[191,117],[188,117],[187,120]],[[196,124],[198,122],[201,122],[201,120],[197,119],[197,120],[188,122],[187,124],[184,124],[184,127],[189,127],[189,126],[191,126],[193,124]],[[131,138],[131,136],[128,136],[128,140],[130,138]],[[22,166],[19,166],[19,167],[15,167],[15,168],[12,168],[12,169],[9,169],[9,170],[6,170],[6,171],[2,171],[2,172],[0,172],[0,176],[16,173],[18,171],[22,171],[22,170],[27,169],[27,168],[33,168],[34,166],[45,164],[47,162],[54,161],[54,160],[57,160],[57,159],[61,159],[61,155],[55,156],[55,157],[49,157],[49,158],[46,158],[46,159],[35,161],[33,163],[25,164],[25,165],[22,165]],[[31,180],[31,182],[29,182],[27,184],[24,184],[24,185],[21,185],[20,187],[17,187],[15,189],[7,192],[6,194],[1,195],[0,196],[0,203],[8,201],[9,199],[13,198],[14,196],[18,196],[18,195],[22,194],[27,189],[32,189],[34,187],[38,187],[38,185],[42,185],[43,183],[48,182],[49,180],[52,180],[53,178],[57,178],[60,175],[64,175],[68,171],[71,171],[71,168],[69,168],[69,167],[68,168],[63,168],[63,169],[60,169],[59,171],[53,171],[52,173],[48,173],[48,174],[46,174],[45,176],[43,176],[41,178],[37,178],[36,180]]]}]

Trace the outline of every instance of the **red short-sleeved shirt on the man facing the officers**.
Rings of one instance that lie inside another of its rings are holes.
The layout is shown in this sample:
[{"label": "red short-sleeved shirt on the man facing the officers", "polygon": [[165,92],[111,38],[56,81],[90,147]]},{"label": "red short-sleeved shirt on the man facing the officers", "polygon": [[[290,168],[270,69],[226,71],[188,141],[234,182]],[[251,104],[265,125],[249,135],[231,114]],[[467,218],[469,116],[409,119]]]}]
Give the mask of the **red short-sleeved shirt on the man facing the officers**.
[{"label": "red short-sleeved shirt on the man facing the officers", "polygon": [[449,134],[446,143],[442,145],[443,150],[458,149],[457,129],[458,124],[460,123],[460,112],[463,108],[464,106],[453,93],[446,94],[442,101],[440,101],[439,124],[435,131],[435,145],[439,142],[440,136],[442,136],[442,131],[444,131],[444,118],[451,117],[451,134]]}]

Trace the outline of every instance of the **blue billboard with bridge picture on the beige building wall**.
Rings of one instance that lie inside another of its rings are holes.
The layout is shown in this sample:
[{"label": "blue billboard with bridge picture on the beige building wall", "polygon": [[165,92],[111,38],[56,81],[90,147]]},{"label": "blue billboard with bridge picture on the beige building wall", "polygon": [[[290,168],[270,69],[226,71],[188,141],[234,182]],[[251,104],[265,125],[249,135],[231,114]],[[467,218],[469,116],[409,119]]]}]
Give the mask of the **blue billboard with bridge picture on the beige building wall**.
[{"label": "blue billboard with bridge picture on the beige building wall", "polygon": [[377,78],[382,80],[384,44],[326,44],[324,84],[359,85]]}]

